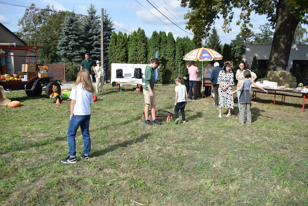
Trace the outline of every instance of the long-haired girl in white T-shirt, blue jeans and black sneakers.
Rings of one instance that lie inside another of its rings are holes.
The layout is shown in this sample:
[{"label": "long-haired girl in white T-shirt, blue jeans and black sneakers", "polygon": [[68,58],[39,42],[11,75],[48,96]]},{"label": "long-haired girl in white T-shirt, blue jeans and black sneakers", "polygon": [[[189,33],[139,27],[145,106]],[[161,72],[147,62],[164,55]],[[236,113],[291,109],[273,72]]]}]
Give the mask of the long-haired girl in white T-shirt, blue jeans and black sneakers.
[{"label": "long-haired girl in white T-shirt, blue jeans and black sneakers", "polygon": [[78,72],[75,85],[71,91],[71,117],[67,129],[67,142],[69,156],[62,160],[63,163],[76,163],[75,135],[80,126],[83,137],[83,155],[81,159],[90,159],[91,140],[89,125],[91,118],[91,103],[93,103],[94,88],[91,83],[90,73],[87,70]]}]

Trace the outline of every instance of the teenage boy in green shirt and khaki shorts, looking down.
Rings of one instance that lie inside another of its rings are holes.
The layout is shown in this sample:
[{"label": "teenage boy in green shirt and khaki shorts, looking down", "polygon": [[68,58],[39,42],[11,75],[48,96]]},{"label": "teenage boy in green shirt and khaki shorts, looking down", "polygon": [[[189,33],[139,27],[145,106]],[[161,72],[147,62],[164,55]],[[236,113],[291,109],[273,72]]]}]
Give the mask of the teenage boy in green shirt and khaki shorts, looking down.
[{"label": "teenage boy in green shirt and khaki shorts, looking down", "polygon": [[[143,95],[144,95],[144,117],[145,121],[144,124],[146,125],[152,125],[152,124],[160,124],[161,121],[156,119],[155,116],[155,90],[154,90],[154,70],[159,66],[159,60],[157,58],[151,58],[150,64],[145,67],[144,71],[144,79],[145,79],[145,85],[143,88]],[[151,114],[152,114],[152,123],[149,120],[149,107],[151,104]]]}]

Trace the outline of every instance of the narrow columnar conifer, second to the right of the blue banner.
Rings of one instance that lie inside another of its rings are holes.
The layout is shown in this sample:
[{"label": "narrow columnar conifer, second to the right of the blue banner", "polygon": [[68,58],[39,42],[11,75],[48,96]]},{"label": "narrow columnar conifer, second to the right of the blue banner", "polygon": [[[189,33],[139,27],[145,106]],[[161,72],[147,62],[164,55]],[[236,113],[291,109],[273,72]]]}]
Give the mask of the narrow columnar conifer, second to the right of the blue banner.
[{"label": "narrow columnar conifer, second to the right of the blue banner", "polygon": [[173,34],[171,32],[168,33],[167,36],[167,50],[166,50],[166,68],[168,73],[165,74],[168,76],[169,82],[172,83],[173,80],[178,76],[178,71],[175,68],[175,41],[173,38]]}]

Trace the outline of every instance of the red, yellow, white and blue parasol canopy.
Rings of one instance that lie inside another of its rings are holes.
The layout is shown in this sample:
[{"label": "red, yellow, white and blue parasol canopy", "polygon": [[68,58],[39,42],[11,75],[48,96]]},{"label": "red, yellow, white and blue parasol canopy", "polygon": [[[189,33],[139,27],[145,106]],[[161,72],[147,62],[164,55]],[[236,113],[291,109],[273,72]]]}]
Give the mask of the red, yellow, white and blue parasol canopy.
[{"label": "red, yellow, white and blue parasol canopy", "polygon": [[213,49],[202,47],[188,52],[183,59],[188,61],[212,61],[213,59],[222,59],[222,55]]}]

